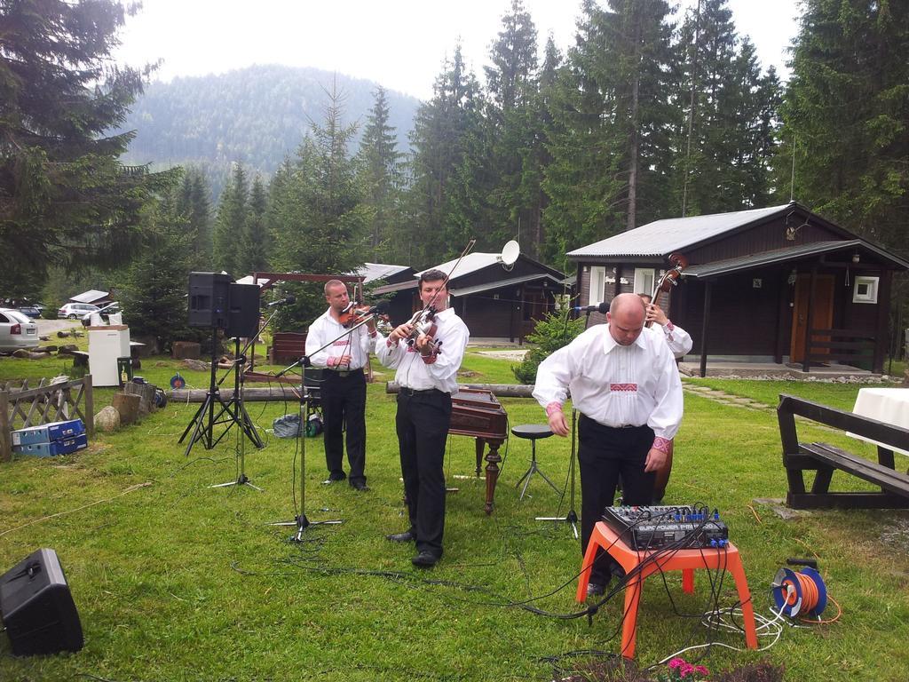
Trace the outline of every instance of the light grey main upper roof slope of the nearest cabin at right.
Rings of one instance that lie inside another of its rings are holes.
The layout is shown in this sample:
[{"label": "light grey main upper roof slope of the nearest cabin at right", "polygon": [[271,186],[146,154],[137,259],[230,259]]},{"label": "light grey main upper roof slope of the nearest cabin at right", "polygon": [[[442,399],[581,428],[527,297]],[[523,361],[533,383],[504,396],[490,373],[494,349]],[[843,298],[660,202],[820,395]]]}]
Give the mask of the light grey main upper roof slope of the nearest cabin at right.
[{"label": "light grey main upper roof slope of the nearest cabin at right", "polygon": [[710,216],[654,220],[621,235],[576,248],[567,256],[664,256],[793,208],[793,204],[784,204]]}]

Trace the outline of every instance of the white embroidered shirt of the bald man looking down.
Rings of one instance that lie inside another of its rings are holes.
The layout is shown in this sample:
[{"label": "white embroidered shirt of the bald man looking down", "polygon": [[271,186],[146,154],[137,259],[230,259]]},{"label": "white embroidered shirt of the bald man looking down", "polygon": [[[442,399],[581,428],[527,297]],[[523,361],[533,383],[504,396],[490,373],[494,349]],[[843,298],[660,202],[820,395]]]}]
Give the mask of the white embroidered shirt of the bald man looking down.
[{"label": "white embroidered shirt of the bald man looking down", "polygon": [[592,326],[544,359],[534,398],[561,405],[571,389],[574,407],[604,426],[650,426],[672,439],[682,422],[682,381],[663,332],[644,328],[620,346],[608,325]]}]

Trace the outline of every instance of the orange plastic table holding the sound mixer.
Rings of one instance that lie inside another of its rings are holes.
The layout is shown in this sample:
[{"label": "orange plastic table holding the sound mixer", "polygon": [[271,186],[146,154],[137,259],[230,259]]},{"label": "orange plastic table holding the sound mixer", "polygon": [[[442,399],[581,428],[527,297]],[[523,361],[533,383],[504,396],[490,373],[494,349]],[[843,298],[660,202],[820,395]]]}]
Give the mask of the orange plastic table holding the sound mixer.
[{"label": "orange plastic table holding the sound mixer", "polygon": [[[651,555],[658,554],[648,550],[636,550],[628,547],[618,537],[615,531],[598,521],[594,526],[594,533],[587,544],[584,553],[584,562],[581,564],[581,575],[577,581],[576,599],[583,602],[587,597],[587,583],[590,580],[590,567],[594,565],[597,547],[602,547],[624,568],[625,573],[631,576],[625,586],[624,624],[622,626],[622,656],[634,658],[634,642],[637,630],[637,608],[641,601],[641,590],[644,580],[657,571],[682,571],[682,589],[684,592],[694,592],[694,569],[712,568],[714,570],[729,571],[735,578],[735,587],[738,590],[739,601],[742,602],[742,619],[744,621],[744,639],[749,648],[757,648],[757,632],[754,629],[754,608],[751,605],[751,592],[748,591],[748,581],[744,577],[742,558],[738,549],[730,543],[721,549],[707,547],[704,549],[679,549],[667,553],[665,556],[655,557],[647,561]],[[638,565],[640,573],[634,572]]]}]

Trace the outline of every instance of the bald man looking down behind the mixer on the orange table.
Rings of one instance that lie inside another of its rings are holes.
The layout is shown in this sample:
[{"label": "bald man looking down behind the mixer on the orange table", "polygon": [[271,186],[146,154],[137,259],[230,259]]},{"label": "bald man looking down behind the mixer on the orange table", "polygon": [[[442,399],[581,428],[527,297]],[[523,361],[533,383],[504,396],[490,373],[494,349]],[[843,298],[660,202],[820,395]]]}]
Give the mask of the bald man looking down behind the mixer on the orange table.
[{"label": "bald man looking down behind the mixer on the orange table", "polygon": [[[557,436],[568,436],[562,404],[571,390],[581,467],[581,554],[594,524],[613,504],[621,474],[624,504],[653,502],[654,476],[682,421],[682,382],[662,331],[644,328],[635,294],[615,296],[606,325],[587,329],[537,369],[534,397]],[[599,557],[588,595],[601,595],[610,566]]]}]

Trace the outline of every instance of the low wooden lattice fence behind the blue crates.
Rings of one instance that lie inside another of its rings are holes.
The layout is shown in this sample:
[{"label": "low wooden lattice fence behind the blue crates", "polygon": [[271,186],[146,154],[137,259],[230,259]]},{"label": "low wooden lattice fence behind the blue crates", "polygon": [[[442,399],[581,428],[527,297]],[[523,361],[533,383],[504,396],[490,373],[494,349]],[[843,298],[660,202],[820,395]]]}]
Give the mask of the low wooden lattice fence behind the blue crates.
[{"label": "low wooden lattice fence behind the blue crates", "polygon": [[[85,409],[82,404],[85,401]],[[75,381],[47,383],[41,379],[35,388],[28,381],[0,384],[0,461],[13,456],[12,432],[66,419],[82,419],[89,437],[95,435],[95,401],[92,376]]]}]

